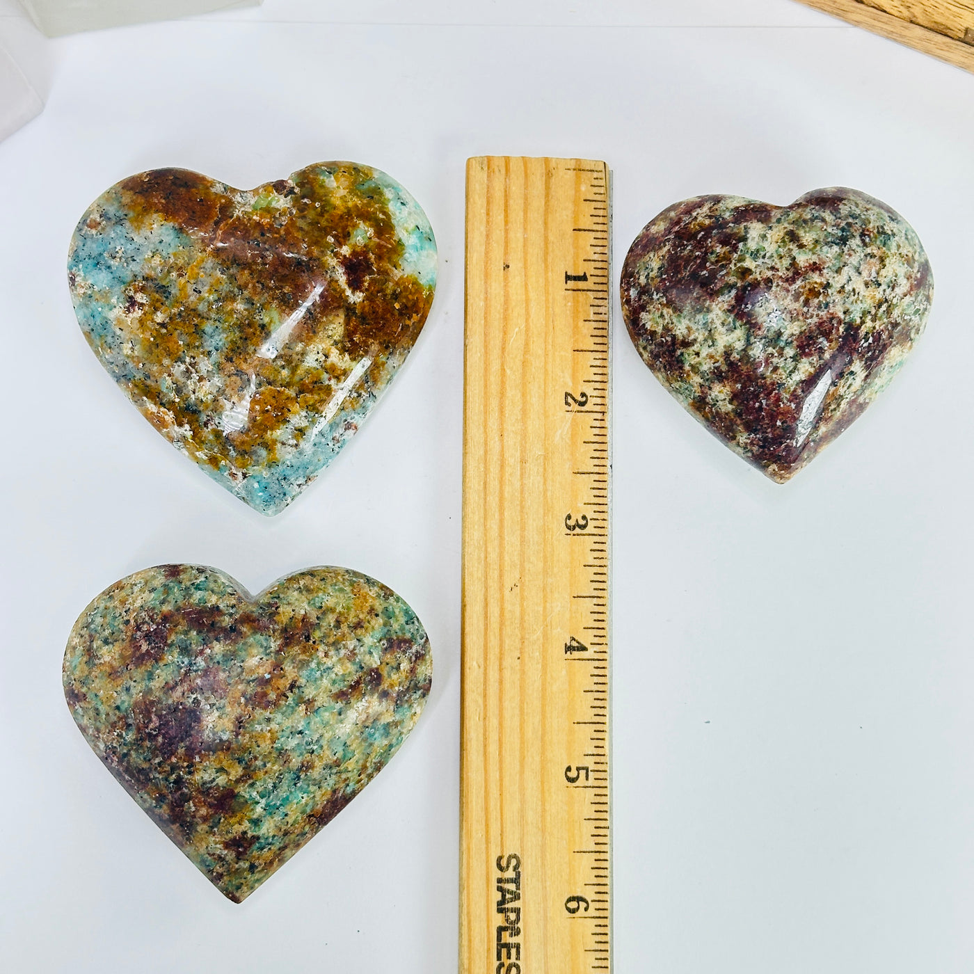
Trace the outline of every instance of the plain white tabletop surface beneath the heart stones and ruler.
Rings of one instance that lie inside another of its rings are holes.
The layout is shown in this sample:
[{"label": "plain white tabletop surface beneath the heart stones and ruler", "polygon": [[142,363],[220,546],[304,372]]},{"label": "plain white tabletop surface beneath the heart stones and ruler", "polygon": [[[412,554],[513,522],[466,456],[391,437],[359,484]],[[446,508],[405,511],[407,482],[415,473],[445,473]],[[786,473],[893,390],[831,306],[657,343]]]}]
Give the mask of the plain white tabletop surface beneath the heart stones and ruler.
[{"label": "plain white tabletop surface beneath the heart stones and ruler", "polygon": [[[607,160],[617,270],[698,193],[844,184],[917,229],[925,336],[785,486],[679,408],[617,317],[616,969],[974,969],[974,77],[788,0],[267,0],[54,42],[12,0],[0,15],[48,102],[0,144],[0,969],[456,969],[464,164],[483,153]],[[425,206],[439,284],[363,431],[267,519],[114,387],[65,253],[132,172],[250,187],[328,159]],[[81,610],[166,561],[253,590],[347,565],[431,635],[417,730],[241,906],[100,766],[61,694]]]}]

